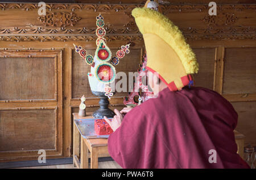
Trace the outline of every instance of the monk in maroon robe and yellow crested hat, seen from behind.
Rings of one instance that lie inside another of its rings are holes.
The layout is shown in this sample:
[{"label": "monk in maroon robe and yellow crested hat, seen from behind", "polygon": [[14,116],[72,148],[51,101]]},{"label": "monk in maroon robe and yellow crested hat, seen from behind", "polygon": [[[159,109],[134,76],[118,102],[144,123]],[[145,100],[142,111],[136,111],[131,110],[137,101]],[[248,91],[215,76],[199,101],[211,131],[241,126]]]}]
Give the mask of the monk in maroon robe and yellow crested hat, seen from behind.
[{"label": "monk in maroon robe and yellow crested hat, seen from behind", "polygon": [[122,168],[249,168],[237,154],[237,112],[215,91],[192,86],[199,66],[178,28],[152,9],[132,15],[156,98],[104,117],[114,131],[110,156]]}]

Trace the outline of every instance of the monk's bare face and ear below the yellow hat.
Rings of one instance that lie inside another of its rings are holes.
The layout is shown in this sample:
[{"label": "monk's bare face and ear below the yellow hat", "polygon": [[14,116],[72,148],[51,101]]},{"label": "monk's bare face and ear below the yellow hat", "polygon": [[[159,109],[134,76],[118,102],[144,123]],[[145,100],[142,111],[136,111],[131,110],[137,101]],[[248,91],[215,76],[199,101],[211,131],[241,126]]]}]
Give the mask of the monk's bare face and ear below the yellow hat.
[{"label": "monk's bare face and ear below the yellow hat", "polygon": [[148,75],[148,85],[151,87],[154,95],[158,95],[160,91],[165,89],[167,87],[166,83],[161,81],[160,78],[158,78],[158,73],[152,73],[150,70],[147,73]]}]

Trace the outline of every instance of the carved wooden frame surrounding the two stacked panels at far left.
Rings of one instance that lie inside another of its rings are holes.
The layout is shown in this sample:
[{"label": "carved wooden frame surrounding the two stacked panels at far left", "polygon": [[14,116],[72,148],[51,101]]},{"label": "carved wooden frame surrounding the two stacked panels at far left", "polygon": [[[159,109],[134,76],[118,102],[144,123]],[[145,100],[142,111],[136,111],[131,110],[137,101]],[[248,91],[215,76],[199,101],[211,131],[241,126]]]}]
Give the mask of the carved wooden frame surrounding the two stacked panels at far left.
[{"label": "carved wooden frame surrounding the two stacked panels at far left", "polygon": [[[49,158],[63,156],[63,49],[15,49],[0,50],[0,57],[52,57],[54,58],[55,99],[2,100],[0,110],[55,110],[55,149],[46,149]],[[33,55],[31,55],[33,54]],[[0,161],[15,159],[35,159],[38,150],[16,150],[0,152]]]}]

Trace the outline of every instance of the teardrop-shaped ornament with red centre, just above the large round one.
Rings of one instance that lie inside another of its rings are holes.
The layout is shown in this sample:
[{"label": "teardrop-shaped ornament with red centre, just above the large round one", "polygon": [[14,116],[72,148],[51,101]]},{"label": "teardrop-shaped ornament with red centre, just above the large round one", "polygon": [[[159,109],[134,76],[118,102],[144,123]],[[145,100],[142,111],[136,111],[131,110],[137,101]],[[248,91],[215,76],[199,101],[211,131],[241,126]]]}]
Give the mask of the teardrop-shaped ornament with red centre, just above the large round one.
[{"label": "teardrop-shaped ornament with red centre, just above the large round one", "polygon": [[101,40],[100,43],[98,44],[95,55],[99,61],[106,62],[110,60],[112,53],[109,47],[104,42],[104,40]]}]

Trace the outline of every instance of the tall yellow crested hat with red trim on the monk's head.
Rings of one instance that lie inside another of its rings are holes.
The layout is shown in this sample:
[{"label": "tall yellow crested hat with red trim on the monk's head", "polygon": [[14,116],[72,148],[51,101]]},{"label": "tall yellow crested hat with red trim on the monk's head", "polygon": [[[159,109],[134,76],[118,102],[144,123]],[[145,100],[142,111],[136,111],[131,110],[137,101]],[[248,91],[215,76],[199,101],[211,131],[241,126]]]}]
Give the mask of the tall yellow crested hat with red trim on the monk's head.
[{"label": "tall yellow crested hat with red trim on the monk's head", "polygon": [[159,78],[171,91],[191,85],[191,74],[198,72],[199,65],[179,28],[152,9],[137,7],[132,15],[143,35],[147,52],[146,68],[159,73]]}]

